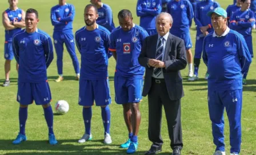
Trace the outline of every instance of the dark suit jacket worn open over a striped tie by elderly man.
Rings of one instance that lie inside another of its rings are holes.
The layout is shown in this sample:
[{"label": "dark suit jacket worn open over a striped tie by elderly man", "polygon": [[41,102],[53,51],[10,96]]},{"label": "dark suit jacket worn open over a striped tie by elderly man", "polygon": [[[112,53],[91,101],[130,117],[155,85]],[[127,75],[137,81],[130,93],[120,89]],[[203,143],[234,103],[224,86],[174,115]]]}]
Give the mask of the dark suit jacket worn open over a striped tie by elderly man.
[{"label": "dark suit jacket worn open over a striped tie by elderly man", "polygon": [[[154,67],[147,66],[149,59],[155,59],[157,52],[158,34],[147,36],[144,40],[141,54],[139,55],[139,64],[146,68],[145,82],[142,96],[147,96],[152,83]],[[169,33],[165,55],[163,58],[166,67],[163,68],[163,77],[165,78],[166,88],[171,100],[181,99],[184,96],[182,87],[182,77],[180,70],[186,68],[187,58],[184,41],[177,36]]]}]

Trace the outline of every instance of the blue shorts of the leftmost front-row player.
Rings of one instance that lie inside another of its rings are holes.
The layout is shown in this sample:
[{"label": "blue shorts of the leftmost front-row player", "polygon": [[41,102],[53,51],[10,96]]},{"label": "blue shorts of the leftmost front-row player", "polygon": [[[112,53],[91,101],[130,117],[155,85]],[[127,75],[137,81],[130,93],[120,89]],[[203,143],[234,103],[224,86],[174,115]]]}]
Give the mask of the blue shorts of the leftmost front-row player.
[{"label": "blue shorts of the leftmost front-row player", "polygon": [[35,101],[37,105],[50,103],[51,91],[48,81],[42,83],[18,82],[17,101],[22,105],[29,105]]}]

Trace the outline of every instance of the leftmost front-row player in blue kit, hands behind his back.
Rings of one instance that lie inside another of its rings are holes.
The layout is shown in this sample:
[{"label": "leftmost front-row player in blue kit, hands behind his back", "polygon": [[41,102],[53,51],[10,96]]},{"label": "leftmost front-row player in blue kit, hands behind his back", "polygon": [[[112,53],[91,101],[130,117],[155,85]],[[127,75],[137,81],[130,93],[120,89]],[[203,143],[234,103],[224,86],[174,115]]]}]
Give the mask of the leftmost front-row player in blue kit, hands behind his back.
[{"label": "leftmost front-row player in blue kit, hands behind his back", "polygon": [[46,69],[53,61],[53,44],[46,32],[37,28],[38,12],[26,11],[26,28],[13,36],[14,57],[19,64],[18,94],[19,134],[13,144],[26,141],[25,125],[27,107],[35,101],[42,105],[49,129],[49,143],[57,144],[53,132],[53,110],[51,109],[51,91],[47,81]]}]

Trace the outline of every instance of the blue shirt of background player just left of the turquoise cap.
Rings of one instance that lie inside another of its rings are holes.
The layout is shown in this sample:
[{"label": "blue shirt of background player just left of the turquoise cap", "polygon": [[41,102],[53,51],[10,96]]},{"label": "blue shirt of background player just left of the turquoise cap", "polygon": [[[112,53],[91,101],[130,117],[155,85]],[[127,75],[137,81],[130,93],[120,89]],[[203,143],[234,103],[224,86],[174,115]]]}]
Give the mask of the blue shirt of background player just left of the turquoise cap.
[{"label": "blue shirt of background player just left of the turquoise cap", "polygon": [[197,5],[195,6],[194,16],[195,25],[197,25],[197,32],[200,33],[200,27],[207,25],[210,27],[207,31],[213,31],[213,28],[211,26],[211,18],[207,16],[207,13],[217,7],[219,7],[219,4],[212,0],[205,0],[197,3]]}]

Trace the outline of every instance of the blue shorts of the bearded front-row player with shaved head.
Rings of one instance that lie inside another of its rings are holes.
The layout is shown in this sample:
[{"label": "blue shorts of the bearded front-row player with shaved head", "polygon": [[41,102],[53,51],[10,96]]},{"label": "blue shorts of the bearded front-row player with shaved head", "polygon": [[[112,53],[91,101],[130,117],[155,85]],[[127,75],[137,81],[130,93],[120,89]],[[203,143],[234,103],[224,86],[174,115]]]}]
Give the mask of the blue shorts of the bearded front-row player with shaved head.
[{"label": "blue shorts of the bearded front-row player with shaved head", "polygon": [[79,80],[79,100],[82,106],[105,106],[111,103],[109,79]]}]

